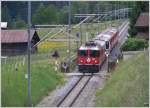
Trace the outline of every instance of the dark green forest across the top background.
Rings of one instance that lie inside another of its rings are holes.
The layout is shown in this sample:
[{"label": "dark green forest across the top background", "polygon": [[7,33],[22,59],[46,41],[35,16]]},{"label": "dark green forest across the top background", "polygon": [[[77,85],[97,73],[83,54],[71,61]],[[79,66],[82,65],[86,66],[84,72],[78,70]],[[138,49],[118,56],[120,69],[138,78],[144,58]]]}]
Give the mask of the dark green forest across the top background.
[{"label": "dark green forest across the top background", "polygon": [[[141,4],[140,2],[138,2]],[[146,2],[148,3],[148,2]],[[76,24],[82,18],[74,14],[97,14],[105,11],[130,8],[135,1],[73,1],[71,2],[71,23]],[[8,28],[27,27],[27,1],[2,1],[2,22],[8,22]],[[32,6],[32,25],[35,24],[67,24],[67,1],[34,1]],[[148,8],[148,7],[147,7]],[[148,9],[147,9],[148,10]]]}]

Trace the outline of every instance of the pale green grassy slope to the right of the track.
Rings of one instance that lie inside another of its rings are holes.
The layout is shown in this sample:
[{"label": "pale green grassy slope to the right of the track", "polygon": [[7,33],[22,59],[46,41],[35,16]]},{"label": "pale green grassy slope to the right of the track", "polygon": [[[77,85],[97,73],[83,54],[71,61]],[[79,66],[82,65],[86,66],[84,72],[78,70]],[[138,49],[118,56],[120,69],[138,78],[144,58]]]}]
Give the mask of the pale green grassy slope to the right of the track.
[{"label": "pale green grassy slope to the right of the track", "polygon": [[97,107],[143,107],[149,103],[148,53],[139,54],[120,63],[96,93]]}]

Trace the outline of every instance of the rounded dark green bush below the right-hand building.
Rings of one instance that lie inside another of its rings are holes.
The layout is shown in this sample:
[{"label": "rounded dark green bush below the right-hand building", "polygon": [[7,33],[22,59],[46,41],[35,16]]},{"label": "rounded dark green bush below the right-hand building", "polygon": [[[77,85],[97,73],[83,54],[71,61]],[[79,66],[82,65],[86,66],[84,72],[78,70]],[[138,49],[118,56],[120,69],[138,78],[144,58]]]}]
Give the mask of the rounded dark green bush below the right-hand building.
[{"label": "rounded dark green bush below the right-hand building", "polygon": [[148,47],[144,39],[129,38],[122,46],[123,51],[137,51]]}]

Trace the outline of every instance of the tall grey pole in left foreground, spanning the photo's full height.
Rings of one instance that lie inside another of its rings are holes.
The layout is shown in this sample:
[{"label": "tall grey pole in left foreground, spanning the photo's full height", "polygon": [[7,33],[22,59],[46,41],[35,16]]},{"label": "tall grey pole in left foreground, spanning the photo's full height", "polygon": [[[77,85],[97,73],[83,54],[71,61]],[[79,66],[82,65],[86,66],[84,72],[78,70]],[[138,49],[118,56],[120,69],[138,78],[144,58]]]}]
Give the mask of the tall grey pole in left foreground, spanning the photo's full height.
[{"label": "tall grey pole in left foreground, spanning the photo's full height", "polygon": [[31,102],[31,81],[30,81],[30,53],[31,53],[31,1],[28,1],[28,65],[27,65],[27,71],[28,71],[28,106],[32,106]]}]

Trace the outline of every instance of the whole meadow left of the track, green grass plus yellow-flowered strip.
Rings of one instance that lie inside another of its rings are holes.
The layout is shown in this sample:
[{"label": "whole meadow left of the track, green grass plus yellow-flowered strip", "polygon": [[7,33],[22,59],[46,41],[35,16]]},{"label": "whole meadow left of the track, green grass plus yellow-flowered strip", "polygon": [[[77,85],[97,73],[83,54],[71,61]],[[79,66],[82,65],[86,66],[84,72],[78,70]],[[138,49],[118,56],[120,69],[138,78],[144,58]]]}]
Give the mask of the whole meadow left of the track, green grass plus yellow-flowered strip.
[{"label": "whole meadow left of the track, green grass plus yellow-flowered strip", "polygon": [[[54,70],[54,59],[51,54],[57,50],[59,60],[65,60],[67,47],[65,42],[49,42],[47,47],[39,47],[39,52],[31,55],[31,95],[32,103],[36,105],[56,86],[64,83],[63,75]],[[72,54],[76,52],[75,46]],[[2,60],[2,106],[26,106],[27,101],[27,63],[25,56],[9,57]],[[23,65],[24,62],[24,65]],[[16,71],[15,65],[18,70]]]}]

